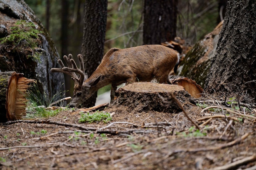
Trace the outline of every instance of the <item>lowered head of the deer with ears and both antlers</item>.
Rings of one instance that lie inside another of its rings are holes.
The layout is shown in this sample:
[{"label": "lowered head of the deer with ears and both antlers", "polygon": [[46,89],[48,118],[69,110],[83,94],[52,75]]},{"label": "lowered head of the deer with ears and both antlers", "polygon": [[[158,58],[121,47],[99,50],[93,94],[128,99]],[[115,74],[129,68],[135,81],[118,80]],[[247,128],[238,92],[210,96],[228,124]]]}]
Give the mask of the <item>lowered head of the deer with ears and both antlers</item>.
[{"label": "lowered head of the deer with ears and both antlers", "polygon": [[[79,107],[80,104],[92,96],[94,91],[91,91],[90,89],[99,82],[101,77],[99,76],[96,79],[85,82],[88,79],[88,76],[87,73],[84,73],[83,57],[81,54],[78,54],[77,57],[80,63],[80,69],[76,66],[75,61],[72,59],[72,54],[69,54],[68,57],[64,55],[64,60],[66,61],[68,67],[64,66],[62,60],[58,60],[61,68],[51,69],[51,72],[60,72],[70,75],[72,80],[75,82],[73,97],[70,101],[69,107]],[[76,73],[79,75],[79,78]]]}]

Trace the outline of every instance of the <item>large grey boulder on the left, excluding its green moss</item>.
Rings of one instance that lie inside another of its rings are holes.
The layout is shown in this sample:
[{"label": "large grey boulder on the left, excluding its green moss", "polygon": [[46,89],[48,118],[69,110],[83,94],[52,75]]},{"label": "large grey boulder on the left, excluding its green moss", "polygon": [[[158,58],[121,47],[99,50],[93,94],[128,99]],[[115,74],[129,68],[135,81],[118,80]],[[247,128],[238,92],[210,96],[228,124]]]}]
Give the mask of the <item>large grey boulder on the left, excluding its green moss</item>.
[{"label": "large grey boulder on the left, excluding its green moss", "polygon": [[[52,73],[52,67],[59,67],[57,59],[60,58],[53,41],[41,21],[36,17],[34,12],[23,0],[1,0],[0,1],[0,22],[6,27],[9,36],[11,27],[17,26],[20,20],[27,23],[34,23],[35,29],[43,31],[39,34],[38,48],[21,48],[21,50],[13,50],[16,45],[9,43],[7,45],[0,44],[0,72],[16,71],[24,73],[24,77],[36,79],[40,91],[45,92],[47,97],[51,98],[54,94],[64,91],[65,86],[62,85],[64,77],[62,73]],[[19,42],[19,45],[26,42],[26,39]],[[37,58],[27,57],[33,56],[34,52],[38,52]]]}]

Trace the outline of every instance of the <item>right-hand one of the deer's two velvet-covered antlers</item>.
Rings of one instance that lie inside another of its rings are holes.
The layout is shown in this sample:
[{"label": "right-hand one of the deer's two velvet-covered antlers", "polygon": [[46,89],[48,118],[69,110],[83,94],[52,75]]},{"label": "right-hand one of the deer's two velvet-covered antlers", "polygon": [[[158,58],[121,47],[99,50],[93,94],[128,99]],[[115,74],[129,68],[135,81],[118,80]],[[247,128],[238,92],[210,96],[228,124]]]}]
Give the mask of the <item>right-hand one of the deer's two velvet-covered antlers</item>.
[{"label": "right-hand one of the deer's two velvet-covered antlers", "polygon": [[71,58],[71,59],[70,59],[70,62],[71,62],[71,64],[72,64],[73,68],[64,67],[64,68],[62,68],[62,70],[63,70],[63,71],[68,71],[68,72],[75,72],[75,73],[78,73],[78,74],[80,75],[80,77],[79,77],[79,78],[74,77],[74,79],[78,82],[78,84],[79,84],[80,86],[82,86],[82,85],[83,85],[83,82],[84,82],[84,80],[85,80],[85,76],[86,76],[86,78],[88,78],[88,76],[84,74],[83,56],[82,56],[81,54],[78,54],[77,57],[78,57],[78,60],[79,60],[81,69],[79,69],[79,68],[76,66],[75,61]]}]

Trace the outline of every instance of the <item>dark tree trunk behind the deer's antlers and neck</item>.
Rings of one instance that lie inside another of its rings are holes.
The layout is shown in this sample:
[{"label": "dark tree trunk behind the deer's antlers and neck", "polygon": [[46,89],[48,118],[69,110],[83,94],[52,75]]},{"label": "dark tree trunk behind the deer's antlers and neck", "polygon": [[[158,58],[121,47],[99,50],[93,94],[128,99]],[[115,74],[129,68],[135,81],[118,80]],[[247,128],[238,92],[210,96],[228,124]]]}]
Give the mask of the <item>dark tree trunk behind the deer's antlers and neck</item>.
[{"label": "dark tree trunk behind the deer's antlers and neck", "polygon": [[[85,1],[82,55],[85,73],[91,76],[100,64],[104,52],[107,23],[107,0]],[[84,107],[95,104],[97,94],[90,97]]]}]

